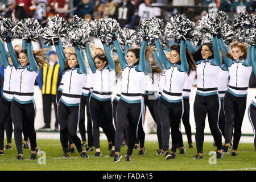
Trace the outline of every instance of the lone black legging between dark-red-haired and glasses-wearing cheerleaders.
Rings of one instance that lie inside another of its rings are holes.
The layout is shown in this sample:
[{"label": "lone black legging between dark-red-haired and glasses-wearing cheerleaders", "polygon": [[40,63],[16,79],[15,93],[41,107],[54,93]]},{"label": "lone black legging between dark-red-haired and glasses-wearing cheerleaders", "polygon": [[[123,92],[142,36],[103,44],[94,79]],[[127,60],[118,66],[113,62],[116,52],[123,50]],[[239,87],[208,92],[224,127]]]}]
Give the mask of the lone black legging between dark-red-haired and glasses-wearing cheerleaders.
[{"label": "lone black legging between dark-red-haired and glasses-wearing cheerleaders", "polygon": [[[183,98],[183,105],[184,105],[184,111],[182,116],[182,122],[185,127],[185,133],[188,138],[188,144],[192,143],[192,133],[191,133],[191,126],[189,123],[189,113],[190,113],[190,104],[189,104],[189,98]],[[180,146],[182,147],[182,146]]]}]

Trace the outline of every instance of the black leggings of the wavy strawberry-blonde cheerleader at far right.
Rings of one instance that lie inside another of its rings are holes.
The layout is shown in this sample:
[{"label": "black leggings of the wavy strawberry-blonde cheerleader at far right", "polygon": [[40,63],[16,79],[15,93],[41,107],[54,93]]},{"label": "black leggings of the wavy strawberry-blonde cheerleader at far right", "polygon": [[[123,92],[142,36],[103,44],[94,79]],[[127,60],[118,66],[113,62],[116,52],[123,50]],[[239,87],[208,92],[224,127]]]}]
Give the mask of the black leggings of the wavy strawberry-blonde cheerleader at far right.
[{"label": "black leggings of the wavy strawberry-blonde cheerleader at far right", "polygon": [[226,92],[223,105],[226,117],[225,124],[225,143],[230,142],[232,137],[232,131],[234,126],[234,140],[233,150],[237,150],[242,134],[242,122],[243,116],[246,110],[246,98],[247,97],[236,97],[233,94]]}]

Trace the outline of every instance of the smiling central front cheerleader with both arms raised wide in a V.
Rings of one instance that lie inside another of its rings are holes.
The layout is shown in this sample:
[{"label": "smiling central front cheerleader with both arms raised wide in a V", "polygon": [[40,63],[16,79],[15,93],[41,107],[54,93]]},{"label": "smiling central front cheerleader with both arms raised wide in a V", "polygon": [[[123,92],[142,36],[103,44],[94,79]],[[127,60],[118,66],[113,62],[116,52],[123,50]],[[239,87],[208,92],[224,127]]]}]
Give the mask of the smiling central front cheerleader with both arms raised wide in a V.
[{"label": "smiling central front cheerleader with both arms raised wide in a V", "polygon": [[120,154],[122,135],[125,124],[129,122],[129,143],[126,152],[126,161],[131,160],[133,148],[138,137],[137,129],[142,115],[142,79],[146,72],[145,49],[147,39],[144,36],[141,48],[130,48],[127,51],[127,59],[123,55],[115,32],[113,43],[117,49],[119,63],[122,68],[122,93],[117,106],[117,131],[115,133],[114,163],[122,158]]}]

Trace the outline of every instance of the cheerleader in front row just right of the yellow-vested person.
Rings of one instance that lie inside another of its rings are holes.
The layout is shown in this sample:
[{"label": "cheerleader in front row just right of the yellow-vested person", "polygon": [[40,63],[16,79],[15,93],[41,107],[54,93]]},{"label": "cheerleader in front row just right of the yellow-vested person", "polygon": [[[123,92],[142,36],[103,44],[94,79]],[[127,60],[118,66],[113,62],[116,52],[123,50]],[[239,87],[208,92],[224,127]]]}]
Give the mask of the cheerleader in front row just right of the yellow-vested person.
[{"label": "cheerleader in front row just right of the yellow-vested person", "polygon": [[79,122],[80,98],[82,85],[86,78],[86,67],[81,51],[75,46],[75,53],[71,53],[64,60],[61,54],[62,47],[59,39],[53,39],[57,55],[59,57],[60,69],[63,72],[63,92],[57,108],[60,123],[60,142],[63,148],[63,158],[68,158],[68,135],[72,138],[82,158],[89,158],[82,151],[81,140],[77,137],[77,124]]}]

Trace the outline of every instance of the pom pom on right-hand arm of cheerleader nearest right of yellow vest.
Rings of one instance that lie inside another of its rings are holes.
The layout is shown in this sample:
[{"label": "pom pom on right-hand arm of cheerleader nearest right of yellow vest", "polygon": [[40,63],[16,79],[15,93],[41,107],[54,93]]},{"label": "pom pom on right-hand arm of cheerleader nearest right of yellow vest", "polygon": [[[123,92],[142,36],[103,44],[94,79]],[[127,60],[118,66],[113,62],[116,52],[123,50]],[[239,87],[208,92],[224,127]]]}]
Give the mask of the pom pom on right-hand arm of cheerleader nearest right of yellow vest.
[{"label": "pom pom on right-hand arm of cheerleader nearest right of yellow vest", "polygon": [[68,38],[73,46],[77,46],[80,50],[82,50],[85,49],[90,43],[90,33],[91,28],[89,23],[83,22],[81,27],[74,28],[68,32]]}]

